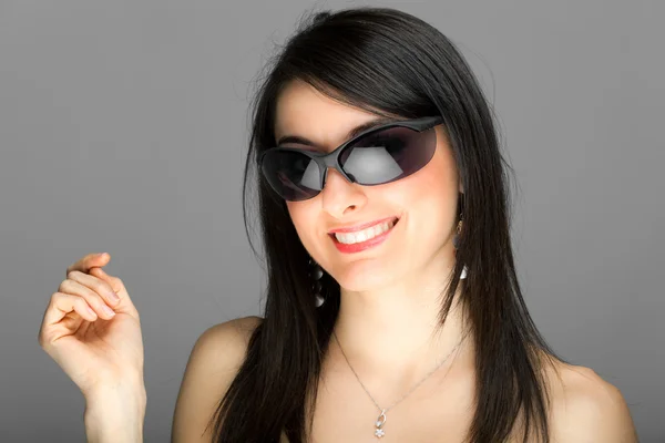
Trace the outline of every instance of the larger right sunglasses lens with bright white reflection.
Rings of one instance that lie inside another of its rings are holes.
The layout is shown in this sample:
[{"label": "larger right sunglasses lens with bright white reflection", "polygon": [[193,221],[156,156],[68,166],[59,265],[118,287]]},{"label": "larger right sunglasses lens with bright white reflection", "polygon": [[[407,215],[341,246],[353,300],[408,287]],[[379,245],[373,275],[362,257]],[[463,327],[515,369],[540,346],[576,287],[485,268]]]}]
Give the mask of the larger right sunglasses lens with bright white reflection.
[{"label": "larger right sunglasses lens with bright white reflection", "polygon": [[407,177],[422,168],[437,148],[433,128],[422,132],[388,127],[347,146],[339,157],[344,171],[360,185],[380,185]]}]

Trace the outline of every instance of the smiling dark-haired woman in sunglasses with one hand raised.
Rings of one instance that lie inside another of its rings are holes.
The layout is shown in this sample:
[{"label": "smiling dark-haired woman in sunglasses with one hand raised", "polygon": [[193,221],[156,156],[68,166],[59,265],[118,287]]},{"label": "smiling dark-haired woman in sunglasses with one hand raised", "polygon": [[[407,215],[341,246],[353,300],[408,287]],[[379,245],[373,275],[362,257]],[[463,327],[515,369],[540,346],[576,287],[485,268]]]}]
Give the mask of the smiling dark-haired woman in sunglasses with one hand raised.
[{"label": "smiling dark-haired woman in sunglasses with one hand raised", "polygon": [[[636,441],[620,391],[528,313],[508,165],[443,34],[392,9],[318,13],[253,120],[266,308],[197,340],[174,442]],[[81,388],[91,441],[141,441],[139,313],[109,259],[68,268],[40,343]]]}]

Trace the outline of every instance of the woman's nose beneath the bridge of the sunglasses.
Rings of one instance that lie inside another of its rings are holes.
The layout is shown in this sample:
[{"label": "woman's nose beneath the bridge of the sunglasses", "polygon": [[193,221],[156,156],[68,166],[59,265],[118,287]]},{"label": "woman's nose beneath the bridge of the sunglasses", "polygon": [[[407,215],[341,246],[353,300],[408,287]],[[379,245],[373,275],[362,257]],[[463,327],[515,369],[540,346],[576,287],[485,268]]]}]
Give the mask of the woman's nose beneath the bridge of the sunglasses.
[{"label": "woman's nose beneath the bridge of the sunglasses", "polygon": [[359,210],[367,203],[362,186],[350,183],[337,169],[329,167],[321,190],[321,206],[335,218]]}]

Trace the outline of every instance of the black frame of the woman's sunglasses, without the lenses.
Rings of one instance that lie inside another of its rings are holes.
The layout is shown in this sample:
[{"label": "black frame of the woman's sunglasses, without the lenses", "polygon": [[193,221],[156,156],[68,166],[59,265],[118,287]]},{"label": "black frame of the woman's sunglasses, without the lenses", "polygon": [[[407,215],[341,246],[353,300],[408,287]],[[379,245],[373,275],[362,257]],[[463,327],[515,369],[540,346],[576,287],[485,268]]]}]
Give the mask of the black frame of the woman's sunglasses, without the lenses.
[{"label": "black frame of the woman's sunglasses, without the lenses", "polygon": [[[283,146],[277,146],[277,147],[272,147],[268,148],[266,151],[264,151],[259,157],[258,157],[258,166],[259,169],[262,172],[262,174],[265,173],[263,171],[263,166],[264,166],[264,158],[266,156],[266,154],[270,153],[270,152],[275,152],[275,151],[279,151],[279,152],[295,152],[301,155],[305,155],[309,158],[311,158],[314,162],[317,163],[318,165],[318,171],[319,171],[319,186],[323,189],[324,186],[326,186],[326,177],[328,175],[328,168],[331,167],[334,169],[336,169],[339,174],[341,174],[349,183],[357,183],[356,179],[347,174],[344,168],[341,167],[341,165],[339,164],[339,156],[341,155],[341,153],[344,152],[344,150],[349,146],[350,144],[355,143],[356,141],[358,141],[359,138],[362,138],[367,135],[370,135],[372,133],[379,132],[379,131],[383,131],[387,130],[389,127],[408,127],[410,130],[415,130],[418,132],[423,132],[427,130],[430,130],[439,124],[443,123],[443,117],[441,117],[440,115],[436,115],[436,116],[428,116],[428,117],[419,117],[419,119],[412,119],[412,120],[405,120],[405,121],[396,121],[396,122],[389,122],[376,127],[371,127],[367,131],[361,132],[360,134],[354,136],[352,138],[346,141],[345,143],[342,143],[341,145],[339,145],[338,147],[336,147],[335,150],[332,150],[329,153],[320,153],[320,152],[315,152],[315,151],[307,151],[307,150],[303,150],[303,148],[297,148],[297,147],[283,147]],[[402,177],[403,178],[403,177]],[[270,183],[269,179],[266,181],[268,182],[268,184]],[[377,186],[377,185],[382,185],[386,183],[390,183],[390,182],[385,182],[385,183],[377,183],[374,185],[362,185],[362,186]],[[273,187],[270,185],[270,187]],[[277,192],[276,189],[273,189],[275,192]],[[320,190],[319,190],[320,193]],[[279,195],[279,193],[277,193]],[[317,194],[318,195],[318,194]],[[316,195],[315,195],[316,196]],[[309,198],[314,198],[309,197]],[[301,202],[301,200],[298,200]]]}]

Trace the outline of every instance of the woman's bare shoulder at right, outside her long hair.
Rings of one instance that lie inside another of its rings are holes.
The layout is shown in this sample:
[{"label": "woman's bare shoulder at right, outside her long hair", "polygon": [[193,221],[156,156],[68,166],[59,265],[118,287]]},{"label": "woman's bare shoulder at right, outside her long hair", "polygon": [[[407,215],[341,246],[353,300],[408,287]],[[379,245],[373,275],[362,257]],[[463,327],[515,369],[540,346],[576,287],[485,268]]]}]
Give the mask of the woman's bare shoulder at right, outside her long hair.
[{"label": "woman's bare shoulder at right, outside her long hair", "polygon": [[552,442],[637,442],[624,396],[594,370],[556,361],[546,379]]}]

